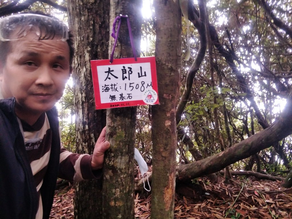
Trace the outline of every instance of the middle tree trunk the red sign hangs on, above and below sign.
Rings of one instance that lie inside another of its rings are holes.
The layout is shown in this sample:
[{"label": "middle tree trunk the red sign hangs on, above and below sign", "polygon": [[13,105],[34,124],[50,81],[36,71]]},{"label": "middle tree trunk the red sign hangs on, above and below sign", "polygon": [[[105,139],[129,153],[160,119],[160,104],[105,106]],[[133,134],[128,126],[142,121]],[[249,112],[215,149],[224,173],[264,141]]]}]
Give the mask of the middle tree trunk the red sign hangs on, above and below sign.
[{"label": "middle tree trunk the red sign hangs on, above and below sign", "polygon": [[[136,53],[140,54],[141,0],[111,0],[110,27],[116,16],[128,15]],[[121,28],[115,58],[133,57],[128,28],[120,20]],[[110,40],[111,51],[114,39]],[[107,109],[107,140],[111,147],[106,152],[103,176],[103,218],[134,218],[134,145],[137,107]]]}]

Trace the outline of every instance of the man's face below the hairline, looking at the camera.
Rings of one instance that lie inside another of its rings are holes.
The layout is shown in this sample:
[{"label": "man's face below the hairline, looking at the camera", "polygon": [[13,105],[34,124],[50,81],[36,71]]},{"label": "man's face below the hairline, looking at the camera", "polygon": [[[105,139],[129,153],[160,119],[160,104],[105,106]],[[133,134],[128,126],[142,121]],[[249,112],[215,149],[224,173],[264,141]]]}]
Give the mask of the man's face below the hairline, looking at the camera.
[{"label": "man's face below the hairline, looking at the camera", "polygon": [[9,42],[0,81],[4,98],[15,97],[19,109],[39,114],[62,97],[70,76],[69,46],[60,40],[35,38],[29,34]]}]

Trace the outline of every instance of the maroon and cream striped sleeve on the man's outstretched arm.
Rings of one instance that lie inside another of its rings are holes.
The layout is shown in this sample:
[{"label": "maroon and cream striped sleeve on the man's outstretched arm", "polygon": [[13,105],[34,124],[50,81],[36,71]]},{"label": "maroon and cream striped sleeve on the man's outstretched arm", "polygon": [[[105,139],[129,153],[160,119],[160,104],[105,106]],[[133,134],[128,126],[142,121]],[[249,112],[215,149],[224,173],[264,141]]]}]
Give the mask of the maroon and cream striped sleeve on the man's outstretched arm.
[{"label": "maroon and cream striped sleeve on the man's outstretched arm", "polygon": [[77,182],[85,179],[100,178],[102,169],[93,171],[91,160],[92,155],[69,152],[61,144],[58,177]]}]

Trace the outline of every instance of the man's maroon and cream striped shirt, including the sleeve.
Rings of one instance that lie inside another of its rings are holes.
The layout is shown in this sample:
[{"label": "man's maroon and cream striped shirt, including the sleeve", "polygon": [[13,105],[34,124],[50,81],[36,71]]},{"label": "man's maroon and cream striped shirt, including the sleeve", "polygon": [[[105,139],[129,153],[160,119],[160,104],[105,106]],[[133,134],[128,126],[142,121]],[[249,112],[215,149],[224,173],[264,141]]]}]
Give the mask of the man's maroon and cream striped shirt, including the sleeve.
[{"label": "man's maroon and cream striped shirt, including the sleeve", "polygon": [[[39,208],[36,219],[41,219],[43,218],[43,206],[40,188],[48,168],[52,132],[46,113],[43,113],[32,126],[25,121],[21,121],[20,124],[20,129],[24,136],[25,149],[34,175],[36,190],[39,194]],[[59,177],[74,181],[94,178],[91,170],[91,158],[92,156],[89,154],[80,155],[68,152],[61,145]]]}]

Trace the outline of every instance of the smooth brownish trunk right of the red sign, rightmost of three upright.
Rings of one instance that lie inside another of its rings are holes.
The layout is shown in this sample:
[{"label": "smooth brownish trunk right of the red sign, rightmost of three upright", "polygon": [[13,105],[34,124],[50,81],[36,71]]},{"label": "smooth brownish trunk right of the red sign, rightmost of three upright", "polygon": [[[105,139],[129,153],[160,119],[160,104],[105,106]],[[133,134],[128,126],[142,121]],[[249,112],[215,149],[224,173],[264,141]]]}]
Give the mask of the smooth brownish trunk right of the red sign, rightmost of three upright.
[{"label": "smooth brownish trunk right of the red sign, rightmost of three upright", "polygon": [[[166,2],[166,3],[164,3]],[[178,1],[153,2],[160,105],[152,106],[153,173],[151,218],[173,218],[177,132],[175,107],[180,85],[181,14]]]}]

